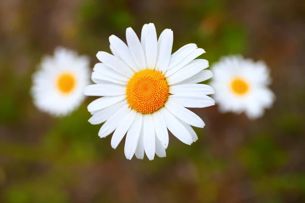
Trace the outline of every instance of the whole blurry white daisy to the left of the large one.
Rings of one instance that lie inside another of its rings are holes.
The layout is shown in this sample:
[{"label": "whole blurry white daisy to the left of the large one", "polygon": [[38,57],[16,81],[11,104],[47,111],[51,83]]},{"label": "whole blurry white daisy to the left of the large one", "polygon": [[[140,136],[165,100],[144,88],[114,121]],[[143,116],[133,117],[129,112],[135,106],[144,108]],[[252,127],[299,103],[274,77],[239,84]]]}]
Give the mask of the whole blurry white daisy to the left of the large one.
[{"label": "whole blurry white daisy to the left of the large one", "polygon": [[56,48],[54,56],[46,56],[33,75],[34,104],[43,112],[64,116],[84,100],[89,85],[89,59],[65,48]]}]

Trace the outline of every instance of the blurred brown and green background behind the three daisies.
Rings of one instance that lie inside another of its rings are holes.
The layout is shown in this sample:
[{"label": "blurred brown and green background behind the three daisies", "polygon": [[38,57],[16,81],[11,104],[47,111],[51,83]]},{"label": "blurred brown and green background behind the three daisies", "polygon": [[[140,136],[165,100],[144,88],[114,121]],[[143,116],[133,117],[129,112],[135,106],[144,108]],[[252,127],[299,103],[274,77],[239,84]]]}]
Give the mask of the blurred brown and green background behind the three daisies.
[{"label": "blurred brown and green background behind the three daisies", "polygon": [[[206,123],[187,146],[173,136],[166,158],[127,160],[87,98],[64,118],[39,112],[29,94],[45,54],[65,46],[90,57],[112,34],[154,22],[187,43],[266,61],[277,99],[264,117],[195,110]],[[305,1],[0,0],[0,202],[305,202]]]}]

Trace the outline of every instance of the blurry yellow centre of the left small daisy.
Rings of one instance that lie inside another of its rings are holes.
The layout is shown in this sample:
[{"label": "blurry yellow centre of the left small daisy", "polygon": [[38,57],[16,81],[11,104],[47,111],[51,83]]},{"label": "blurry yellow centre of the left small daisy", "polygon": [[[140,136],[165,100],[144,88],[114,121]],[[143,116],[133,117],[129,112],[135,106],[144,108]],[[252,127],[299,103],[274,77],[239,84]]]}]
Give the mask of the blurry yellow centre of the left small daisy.
[{"label": "blurry yellow centre of the left small daisy", "polygon": [[60,74],[57,78],[58,90],[64,94],[70,93],[75,87],[75,78],[70,73]]}]

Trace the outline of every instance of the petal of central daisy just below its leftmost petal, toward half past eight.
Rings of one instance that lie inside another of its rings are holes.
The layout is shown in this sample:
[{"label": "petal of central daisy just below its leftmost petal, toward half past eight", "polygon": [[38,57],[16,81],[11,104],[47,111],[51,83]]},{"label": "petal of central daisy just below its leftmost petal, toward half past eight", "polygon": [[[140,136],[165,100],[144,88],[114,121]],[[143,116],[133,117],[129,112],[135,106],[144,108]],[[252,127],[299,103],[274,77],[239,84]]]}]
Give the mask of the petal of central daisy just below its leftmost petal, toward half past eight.
[{"label": "petal of central daisy just below its leftmost petal, toward half past eight", "polygon": [[88,112],[100,111],[107,107],[110,107],[119,101],[122,101],[126,98],[126,95],[121,96],[104,96],[101,98],[97,98],[96,100],[92,101],[87,107]]}]

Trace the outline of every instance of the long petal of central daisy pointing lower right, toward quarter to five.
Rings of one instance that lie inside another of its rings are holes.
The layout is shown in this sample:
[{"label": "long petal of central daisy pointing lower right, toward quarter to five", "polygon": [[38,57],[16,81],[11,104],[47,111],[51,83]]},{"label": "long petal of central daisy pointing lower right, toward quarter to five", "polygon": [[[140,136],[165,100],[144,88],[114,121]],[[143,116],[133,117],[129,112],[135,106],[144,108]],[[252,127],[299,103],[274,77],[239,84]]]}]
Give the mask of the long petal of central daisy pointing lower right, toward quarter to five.
[{"label": "long petal of central daisy pointing lower right, toward quarter to five", "polygon": [[160,110],[162,117],[165,120],[166,126],[182,143],[191,145],[193,139],[189,131],[181,124],[181,122],[165,108]]}]

